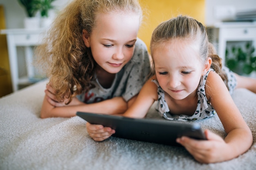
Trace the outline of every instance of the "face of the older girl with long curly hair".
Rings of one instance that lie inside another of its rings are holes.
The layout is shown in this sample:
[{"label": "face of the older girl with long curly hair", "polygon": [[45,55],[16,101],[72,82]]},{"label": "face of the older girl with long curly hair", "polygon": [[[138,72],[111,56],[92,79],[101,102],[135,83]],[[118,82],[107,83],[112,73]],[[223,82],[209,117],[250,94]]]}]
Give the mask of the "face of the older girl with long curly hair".
[{"label": "face of the older girl with long curly hair", "polygon": [[98,14],[91,35],[83,31],[83,40],[103,70],[118,73],[132,58],[138,30],[139,15],[135,13]]}]

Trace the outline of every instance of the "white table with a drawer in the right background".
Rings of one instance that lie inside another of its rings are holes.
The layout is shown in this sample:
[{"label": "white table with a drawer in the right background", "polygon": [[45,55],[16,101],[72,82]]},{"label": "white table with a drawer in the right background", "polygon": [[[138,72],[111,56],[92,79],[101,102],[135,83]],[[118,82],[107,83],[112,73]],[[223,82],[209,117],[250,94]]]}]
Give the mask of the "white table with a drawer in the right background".
[{"label": "white table with a drawer in the right background", "polygon": [[217,52],[223,64],[229,41],[252,41],[256,48],[256,22],[221,22],[207,27],[207,31],[209,39],[217,45]]}]

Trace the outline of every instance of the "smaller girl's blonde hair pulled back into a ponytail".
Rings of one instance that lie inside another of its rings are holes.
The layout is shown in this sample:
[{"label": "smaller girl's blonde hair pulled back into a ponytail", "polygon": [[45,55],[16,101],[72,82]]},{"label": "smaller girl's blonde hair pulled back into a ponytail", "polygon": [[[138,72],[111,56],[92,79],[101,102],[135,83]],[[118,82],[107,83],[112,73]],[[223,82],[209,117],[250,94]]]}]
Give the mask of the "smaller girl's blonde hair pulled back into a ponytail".
[{"label": "smaller girl's blonde hair pulled back into a ponytail", "polygon": [[171,39],[183,38],[199,42],[200,44],[200,59],[205,63],[207,57],[211,57],[211,68],[220,75],[227,86],[227,76],[222,72],[222,59],[216,54],[213,44],[208,40],[206,28],[202,23],[188,16],[179,15],[159,24],[153,31],[150,41],[150,51],[153,59],[154,74],[154,56],[153,51],[156,46],[164,41]]}]

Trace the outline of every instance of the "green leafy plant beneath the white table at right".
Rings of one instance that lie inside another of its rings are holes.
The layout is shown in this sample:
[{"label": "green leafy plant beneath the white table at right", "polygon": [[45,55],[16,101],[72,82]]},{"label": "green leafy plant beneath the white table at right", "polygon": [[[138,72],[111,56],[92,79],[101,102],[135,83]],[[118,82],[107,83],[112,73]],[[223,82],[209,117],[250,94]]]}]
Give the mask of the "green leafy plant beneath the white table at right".
[{"label": "green leafy plant beneath the white table at right", "polygon": [[252,46],[252,42],[247,42],[244,49],[241,46],[232,46],[231,53],[226,49],[227,67],[238,74],[250,74],[252,71],[256,71],[254,51],[255,48]]}]

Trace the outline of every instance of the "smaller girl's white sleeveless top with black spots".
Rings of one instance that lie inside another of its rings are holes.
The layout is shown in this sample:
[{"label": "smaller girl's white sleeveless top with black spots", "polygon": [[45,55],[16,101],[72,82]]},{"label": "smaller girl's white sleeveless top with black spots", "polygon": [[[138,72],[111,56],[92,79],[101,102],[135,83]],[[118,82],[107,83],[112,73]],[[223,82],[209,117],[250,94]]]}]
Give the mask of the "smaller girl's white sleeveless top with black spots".
[{"label": "smaller girl's white sleeveless top with black spots", "polygon": [[[223,71],[227,74],[228,78],[228,86],[229,86],[229,93],[233,93],[234,88],[236,87],[236,77],[234,76],[234,73],[231,72],[227,67],[222,68]],[[209,69],[209,71],[203,75],[200,79],[200,83],[198,85],[198,106],[195,110],[195,113],[192,116],[188,115],[172,115],[170,113],[170,110],[168,108],[168,105],[166,101],[164,100],[164,91],[159,86],[157,80],[153,79],[152,82],[154,82],[158,87],[158,101],[156,105],[156,110],[158,113],[168,120],[178,120],[178,121],[194,121],[199,119],[206,119],[208,117],[212,117],[216,115],[216,111],[211,106],[210,102],[207,100],[207,97],[205,95],[205,82],[207,79],[207,76],[210,71],[214,71],[213,69]]]}]

